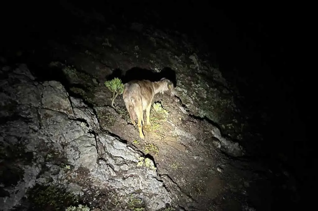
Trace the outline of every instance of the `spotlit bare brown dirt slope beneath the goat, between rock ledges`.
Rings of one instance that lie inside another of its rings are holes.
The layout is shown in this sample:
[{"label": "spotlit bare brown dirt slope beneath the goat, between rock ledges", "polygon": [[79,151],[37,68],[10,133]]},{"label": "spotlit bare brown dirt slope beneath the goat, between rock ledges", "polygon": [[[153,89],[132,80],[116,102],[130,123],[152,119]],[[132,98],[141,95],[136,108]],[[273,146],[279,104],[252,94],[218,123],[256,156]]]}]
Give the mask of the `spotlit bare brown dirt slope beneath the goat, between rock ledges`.
[{"label": "spotlit bare brown dirt slope beneath the goat, between rock ledges", "polygon": [[[157,173],[169,175],[183,193],[196,201],[215,203],[218,197],[232,191],[231,179],[222,178],[217,170],[225,157],[208,141],[211,125],[185,114],[179,108],[180,101],[166,94],[157,94],[153,102],[151,125],[143,127],[145,140],[139,138],[137,126],[129,123],[121,96],[117,99],[117,109],[96,108],[100,125],[153,157]],[[159,112],[154,108],[157,104],[162,109]]]}]

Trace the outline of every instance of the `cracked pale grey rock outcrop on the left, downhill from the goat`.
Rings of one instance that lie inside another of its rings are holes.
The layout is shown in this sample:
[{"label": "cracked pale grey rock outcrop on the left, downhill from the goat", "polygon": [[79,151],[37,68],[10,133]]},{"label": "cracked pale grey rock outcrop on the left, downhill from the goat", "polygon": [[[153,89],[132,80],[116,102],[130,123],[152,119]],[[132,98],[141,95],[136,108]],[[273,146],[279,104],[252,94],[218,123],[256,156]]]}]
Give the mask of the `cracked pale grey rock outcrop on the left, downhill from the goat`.
[{"label": "cracked pale grey rock outcrop on the left, downhill from the goat", "polygon": [[[3,210],[18,206],[36,183],[48,181],[77,187],[74,192],[84,192],[84,198],[102,189],[125,201],[139,190],[135,195],[148,210],[171,203],[156,171],[137,166],[141,153],[101,132],[93,109],[70,97],[61,83],[37,82],[25,65],[3,67],[1,75]],[[19,153],[13,153],[17,147]]]}]

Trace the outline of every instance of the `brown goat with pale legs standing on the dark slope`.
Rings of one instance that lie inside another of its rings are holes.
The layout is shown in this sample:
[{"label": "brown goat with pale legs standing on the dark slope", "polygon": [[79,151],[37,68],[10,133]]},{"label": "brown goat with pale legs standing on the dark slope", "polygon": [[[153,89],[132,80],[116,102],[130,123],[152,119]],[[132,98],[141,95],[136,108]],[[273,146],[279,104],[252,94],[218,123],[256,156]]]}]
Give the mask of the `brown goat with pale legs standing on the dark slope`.
[{"label": "brown goat with pale legs standing on the dark slope", "polygon": [[146,125],[150,125],[149,118],[152,100],[156,93],[164,93],[167,91],[170,92],[171,97],[175,96],[173,83],[165,78],[155,82],[151,82],[149,80],[132,80],[124,84],[122,97],[133,125],[136,124],[136,117],[138,118],[140,138],[145,138],[142,132],[142,125],[145,122],[143,111],[146,110]]}]

